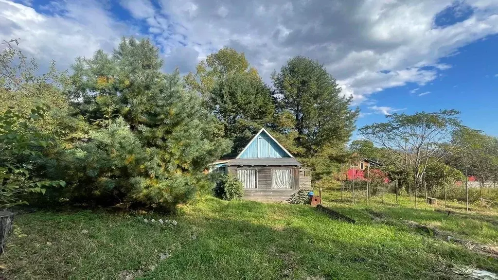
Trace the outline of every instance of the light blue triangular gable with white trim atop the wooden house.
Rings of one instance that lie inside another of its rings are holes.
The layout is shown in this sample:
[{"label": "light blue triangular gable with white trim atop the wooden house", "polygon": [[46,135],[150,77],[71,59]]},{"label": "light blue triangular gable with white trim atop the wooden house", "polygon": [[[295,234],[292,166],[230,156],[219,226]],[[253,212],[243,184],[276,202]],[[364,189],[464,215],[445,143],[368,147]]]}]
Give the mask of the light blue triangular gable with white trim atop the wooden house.
[{"label": "light blue triangular gable with white trim atop the wooden house", "polygon": [[246,147],[240,158],[279,158],[291,157],[264,131],[259,133]]}]

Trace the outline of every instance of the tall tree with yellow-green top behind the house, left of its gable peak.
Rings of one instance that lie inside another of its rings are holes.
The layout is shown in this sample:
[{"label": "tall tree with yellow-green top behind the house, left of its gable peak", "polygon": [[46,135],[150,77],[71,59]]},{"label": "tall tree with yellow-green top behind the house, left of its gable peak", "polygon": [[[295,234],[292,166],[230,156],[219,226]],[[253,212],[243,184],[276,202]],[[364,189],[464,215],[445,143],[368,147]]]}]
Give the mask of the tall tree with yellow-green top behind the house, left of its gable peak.
[{"label": "tall tree with yellow-green top behind the house, left of its gable peak", "polygon": [[199,92],[204,105],[223,127],[222,135],[234,142],[238,153],[261,127],[273,122],[275,107],[270,89],[244,53],[228,47],[208,55],[195,74],[185,78],[188,89]]}]

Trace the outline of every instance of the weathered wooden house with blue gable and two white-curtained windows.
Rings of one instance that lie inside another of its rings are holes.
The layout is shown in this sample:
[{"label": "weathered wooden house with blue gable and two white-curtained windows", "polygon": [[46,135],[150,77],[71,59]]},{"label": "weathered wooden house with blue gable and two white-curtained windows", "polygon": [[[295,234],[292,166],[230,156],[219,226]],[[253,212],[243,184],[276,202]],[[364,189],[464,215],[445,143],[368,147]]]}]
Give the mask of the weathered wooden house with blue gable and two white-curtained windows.
[{"label": "weathered wooden house with blue gable and two white-curtained windows", "polygon": [[282,201],[299,189],[311,187],[311,174],[261,129],[235,157],[213,163],[211,172],[231,173],[244,184],[244,198]]}]

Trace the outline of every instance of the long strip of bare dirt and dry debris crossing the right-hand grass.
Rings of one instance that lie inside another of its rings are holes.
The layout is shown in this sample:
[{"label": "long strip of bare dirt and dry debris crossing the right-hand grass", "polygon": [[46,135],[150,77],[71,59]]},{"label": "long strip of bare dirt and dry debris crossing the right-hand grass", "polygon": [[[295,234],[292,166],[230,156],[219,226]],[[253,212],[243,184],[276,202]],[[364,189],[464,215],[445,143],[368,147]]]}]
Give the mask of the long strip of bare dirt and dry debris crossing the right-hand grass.
[{"label": "long strip of bare dirt and dry debris crossing the right-hand grass", "polygon": [[453,237],[453,233],[451,232],[446,232],[446,231],[441,231],[435,227],[431,226],[426,226],[419,224],[414,221],[405,221],[405,223],[412,228],[417,228],[421,229],[422,231],[426,232],[430,236],[433,236],[434,238],[439,238],[441,240],[447,241],[447,242],[454,242],[459,245],[462,245],[464,248],[480,253],[483,255],[486,255],[488,257],[492,257],[494,259],[498,259],[498,248],[495,246],[490,246],[490,245],[485,245],[479,242],[467,240],[467,239],[460,239]]}]

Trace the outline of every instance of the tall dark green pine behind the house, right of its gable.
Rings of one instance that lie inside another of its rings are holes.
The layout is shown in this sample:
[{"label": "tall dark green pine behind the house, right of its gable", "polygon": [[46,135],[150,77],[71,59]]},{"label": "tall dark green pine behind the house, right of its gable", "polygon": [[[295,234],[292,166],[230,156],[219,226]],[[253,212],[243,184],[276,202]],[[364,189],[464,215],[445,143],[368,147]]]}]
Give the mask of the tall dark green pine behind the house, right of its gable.
[{"label": "tall dark green pine behind the house, right of its gable", "polygon": [[325,67],[297,56],[272,75],[279,110],[288,111],[298,133],[299,156],[311,157],[327,144],[343,145],[355,130],[359,110],[352,111],[352,97],[344,97]]}]

